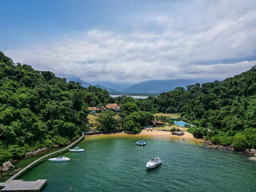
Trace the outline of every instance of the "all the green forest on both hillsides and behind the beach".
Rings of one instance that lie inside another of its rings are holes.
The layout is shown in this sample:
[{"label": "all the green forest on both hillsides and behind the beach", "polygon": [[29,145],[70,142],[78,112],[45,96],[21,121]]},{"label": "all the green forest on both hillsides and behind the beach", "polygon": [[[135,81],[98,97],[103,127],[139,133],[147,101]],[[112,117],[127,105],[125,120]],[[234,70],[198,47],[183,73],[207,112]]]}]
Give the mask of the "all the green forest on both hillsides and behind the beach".
[{"label": "all the green forest on both hillsides and behind the beach", "polygon": [[65,145],[87,131],[87,107],[122,104],[120,118],[105,111],[96,121],[99,130],[139,132],[153,114],[180,113],[197,125],[188,131],[216,144],[237,150],[256,147],[256,67],[222,82],[196,83],[137,99],[109,96],[107,90],[56,77],[14,63],[0,52],[0,163],[26,152],[56,144]]}]

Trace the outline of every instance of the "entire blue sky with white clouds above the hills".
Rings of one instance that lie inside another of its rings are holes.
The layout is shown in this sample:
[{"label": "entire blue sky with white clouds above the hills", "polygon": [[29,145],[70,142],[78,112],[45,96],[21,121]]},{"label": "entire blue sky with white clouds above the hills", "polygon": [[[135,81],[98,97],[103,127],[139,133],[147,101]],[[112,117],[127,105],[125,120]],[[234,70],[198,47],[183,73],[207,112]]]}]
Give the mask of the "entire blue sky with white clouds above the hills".
[{"label": "entire blue sky with white clouds above the hills", "polygon": [[256,65],[255,0],[1,0],[0,7],[0,51],[60,77],[223,80]]}]

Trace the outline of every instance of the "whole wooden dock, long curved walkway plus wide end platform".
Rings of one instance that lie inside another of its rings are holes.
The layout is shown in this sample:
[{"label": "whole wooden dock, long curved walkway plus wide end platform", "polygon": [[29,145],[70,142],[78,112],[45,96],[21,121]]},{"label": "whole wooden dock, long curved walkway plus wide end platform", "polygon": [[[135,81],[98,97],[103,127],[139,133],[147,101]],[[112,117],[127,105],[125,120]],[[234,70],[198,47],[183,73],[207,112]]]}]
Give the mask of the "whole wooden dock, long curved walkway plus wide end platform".
[{"label": "whole wooden dock, long curved walkway plus wide end platform", "polygon": [[14,174],[12,177],[7,179],[5,183],[0,183],[0,189],[2,188],[0,191],[5,191],[5,192],[28,192],[28,191],[39,192],[39,191],[41,191],[44,188],[44,186],[47,184],[47,179],[38,179],[37,181],[23,181],[23,180],[14,180],[14,179],[16,177],[20,176],[21,174],[24,174],[27,169],[31,169],[31,166],[36,165],[37,162],[40,162],[44,158],[47,159],[48,156],[50,156],[50,155],[54,156],[55,154],[59,155],[60,152],[62,152],[62,151],[65,152],[70,147],[72,147],[75,144],[77,144],[78,142],[82,141],[83,138],[84,138],[84,134],[82,134],[82,136],[79,139],[74,141],[68,147],[65,147],[61,150],[55,151],[53,153],[50,153],[48,155],[45,155],[45,156],[33,161],[28,166],[26,166],[25,168],[20,170],[18,173]]}]

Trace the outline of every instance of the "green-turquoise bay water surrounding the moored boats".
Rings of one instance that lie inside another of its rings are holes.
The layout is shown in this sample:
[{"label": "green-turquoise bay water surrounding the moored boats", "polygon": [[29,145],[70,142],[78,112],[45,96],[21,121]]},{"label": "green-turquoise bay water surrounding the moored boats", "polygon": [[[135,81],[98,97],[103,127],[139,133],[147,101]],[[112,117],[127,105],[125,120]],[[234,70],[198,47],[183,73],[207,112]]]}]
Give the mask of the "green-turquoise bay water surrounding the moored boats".
[{"label": "green-turquoise bay water surrounding the moored boats", "polygon": [[[145,146],[137,146],[143,140]],[[48,179],[48,191],[254,191],[256,163],[230,150],[165,137],[94,136],[66,152],[68,162],[44,161],[19,179]],[[162,164],[146,169],[159,157]]]}]

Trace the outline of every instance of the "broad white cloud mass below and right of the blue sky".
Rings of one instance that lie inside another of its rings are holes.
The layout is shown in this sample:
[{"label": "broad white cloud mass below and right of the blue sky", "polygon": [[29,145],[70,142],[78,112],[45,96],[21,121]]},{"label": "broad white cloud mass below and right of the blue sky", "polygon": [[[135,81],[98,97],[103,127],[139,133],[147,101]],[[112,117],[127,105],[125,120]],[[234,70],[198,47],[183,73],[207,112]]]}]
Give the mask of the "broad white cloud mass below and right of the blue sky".
[{"label": "broad white cloud mass below and right of the blue sky", "polygon": [[[254,66],[255,61],[244,61],[256,58],[253,2],[247,1],[240,9],[238,1],[195,2],[200,5],[195,10],[139,13],[134,21],[139,27],[130,33],[92,29],[59,42],[9,49],[5,54],[36,70],[85,81],[224,79]],[[217,63],[231,59],[241,62]]]}]

